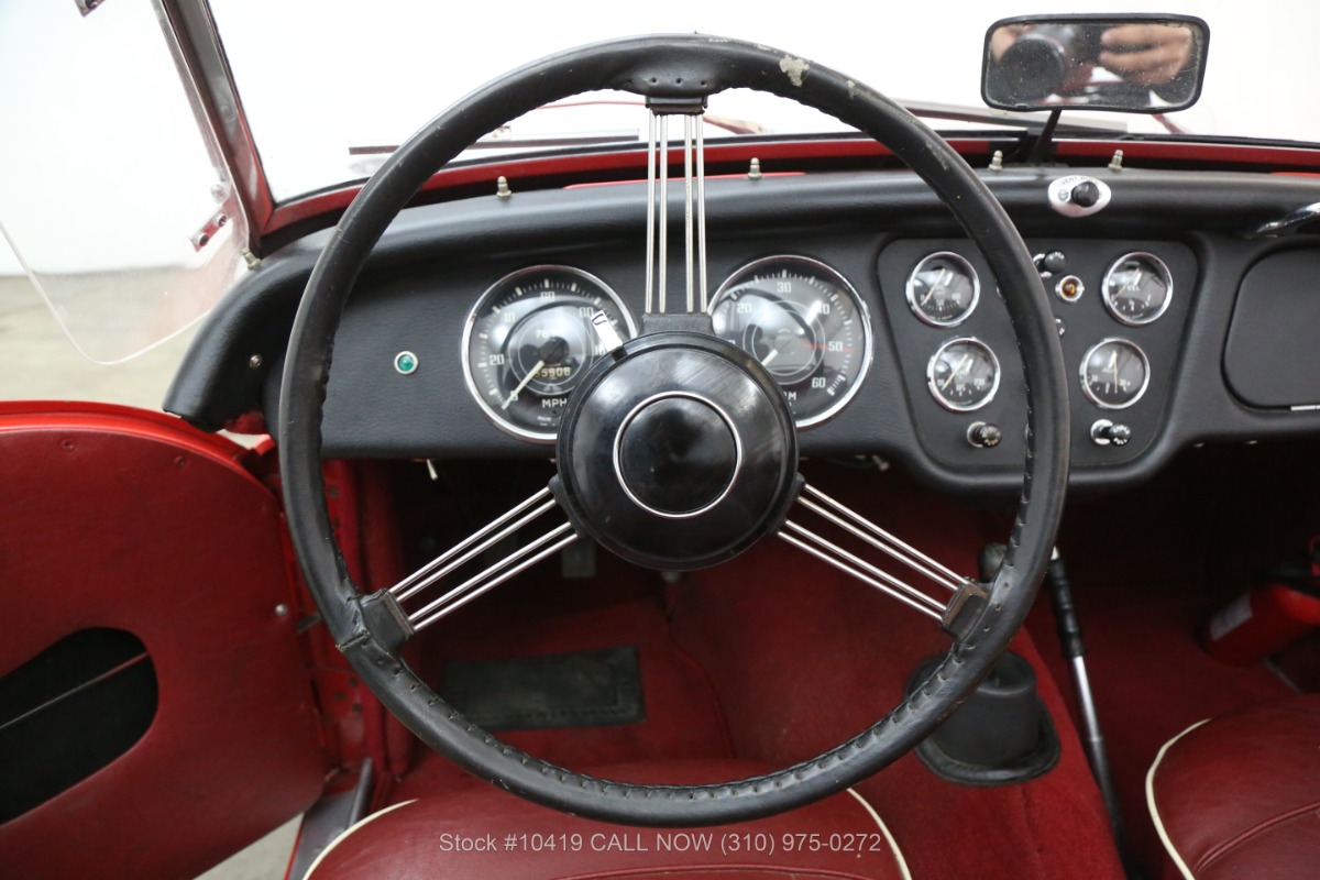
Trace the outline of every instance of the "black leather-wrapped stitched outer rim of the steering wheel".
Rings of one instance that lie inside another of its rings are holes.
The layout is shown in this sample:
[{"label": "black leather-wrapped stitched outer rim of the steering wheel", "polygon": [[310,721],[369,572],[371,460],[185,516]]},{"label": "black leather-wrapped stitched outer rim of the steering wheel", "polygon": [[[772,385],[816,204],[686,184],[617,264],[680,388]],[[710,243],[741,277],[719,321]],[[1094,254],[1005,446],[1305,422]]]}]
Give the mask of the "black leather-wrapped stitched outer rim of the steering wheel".
[{"label": "black leather-wrapped stitched outer rim of the steering wheel", "polygon": [[[690,99],[748,87],[822,110],[880,141],[921,175],[975,241],[999,282],[1024,364],[1027,458],[1007,555],[979,619],[888,715],[822,755],[718,785],[635,785],[554,767],[499,741],[447,706],[364,612],[334,540],[321,474],[321,420],[335,330],[376,240],[426,179],[474,140],[536,107],[618,88]],[[911,113],[862,83],[766,46],[700,34],[593,44],[520,67],[471,92],[396,150],[345,212],[308,282],[280,397],[280,466],[294,549],[337,645],[381,702],[432,748],[532,801],[649,826],[748,821],[826,797],[920,743],[957,708],[1022,625],[1063,513],[1067,379],[1040,278],[1016,230],[966,162]]]}]

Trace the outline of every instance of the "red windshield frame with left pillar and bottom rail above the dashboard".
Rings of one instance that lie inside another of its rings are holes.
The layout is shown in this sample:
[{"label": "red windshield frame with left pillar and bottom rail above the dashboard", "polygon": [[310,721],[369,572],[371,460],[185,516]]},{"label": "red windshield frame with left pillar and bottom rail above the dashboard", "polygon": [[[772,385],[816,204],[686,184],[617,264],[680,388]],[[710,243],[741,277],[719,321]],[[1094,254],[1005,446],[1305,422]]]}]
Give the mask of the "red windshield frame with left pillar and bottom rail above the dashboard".
[{"label": "red windshield frame with left pillar and bottom rail above the dashboard", "polygon": [[[317,190],[300,193],[277,201],[267,179],[255,136],[243,111],[243,102],[228,58],[226,55],[219,29],[207,0],[156,0],[170,26],[177,34],[183,63],[197,86],[198,100],[213,129],[218,133],[226,162],[248,218],[249,251],[260,257],[288,241],[326,228],[337,222],[352,197],[362,189],[367,177],[345,179]],[[899,100],[904,107],[928,120],[970,121],[973,125],[986,125],[986,129],[962,128],[937,132],[958,152],[969,158],[985,153],[989,158],[995,150],[1002,152],[1005,161],[1024,160],[1032,154],[1034,146],[1045,125],[1048,111],[1008,112],[989,107],[952,107],[931,102]],[[993,127],[993,128],[989,128]],[[1167,161],[1189,158],[1193,162],[1214,161],[1224,166],[1278,166],[1296,170],[1315,170],[1320,166],[1320,144],[1290,140],[1263,140],[1255,137],[1232,137],[1220,135],[1159,135],[1133,133],[1117,129],[1113,123],[1101,117],[1094,121],[1084,113],[1065,113],[1064,120],[1053,132],[1053,154],[1090,157],[1098,152],[1111,153],[1107,146],[1121,142],[1129,156],[1144,152],[1164,157]],[[1144,149],[1134,150],[1137,144]],[[644,156],[643,144],[618,141],[612,144],[585,145],[573,148],[528,148],[517,152],[491,152],[462,158],[438,170],[418,193],[416,203],[449,201],[466,195],[484,194],[494,186],[495,177],[506,173],[502,169],[517,169],[521,189],[541,189],[569,182],[568,172],[581,181],[583,172],[598,179],[635,179],[644,172],[639,158]],[[859,133],[830,132],[821,135],[751,135],[737,140],[708,141],[708,150],[717,158],[713,168],[718,170],[718,156],[729,164],[746,162],[754,154],[764,158],[774,150],[779,156],[808,156],[808,166],[828,158],[836,158],[846,168],[849,162],[857,166],[869,162],[875,166],[875,157],[886,156],[870,139]],[[1220,152],[1218,148],[1224,148]],[[1212,158],[1212,156],[1214,158]],[[743,165],[746,168],[746,165]],[[510,175],[512,179],[512,175]]]}]

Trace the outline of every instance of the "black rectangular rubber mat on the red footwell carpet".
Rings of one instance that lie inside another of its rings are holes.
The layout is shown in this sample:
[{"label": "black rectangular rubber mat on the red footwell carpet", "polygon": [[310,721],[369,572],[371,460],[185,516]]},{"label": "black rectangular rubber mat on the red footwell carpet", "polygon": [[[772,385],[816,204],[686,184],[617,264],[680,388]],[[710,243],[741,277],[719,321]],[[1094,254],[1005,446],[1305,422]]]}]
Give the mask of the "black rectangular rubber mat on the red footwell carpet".
[{"label": "black rectangular rubber mat on the red footwell carpet", "polygon": [[491,731],[645,720],[634,646],[508,660],[450,660],[442,695]]}]

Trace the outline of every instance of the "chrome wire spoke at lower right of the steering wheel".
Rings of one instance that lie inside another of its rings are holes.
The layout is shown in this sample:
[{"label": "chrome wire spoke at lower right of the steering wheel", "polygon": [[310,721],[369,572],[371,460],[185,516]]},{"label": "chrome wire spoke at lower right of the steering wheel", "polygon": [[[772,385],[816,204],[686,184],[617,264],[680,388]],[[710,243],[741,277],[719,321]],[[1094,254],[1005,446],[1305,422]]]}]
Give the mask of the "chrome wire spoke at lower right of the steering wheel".
[{"label": "chrome wire spoke at lower right of the steering wheel", "polygon": [[867,546],[879,550],[890,559],[900,562],[913,573],[941,587],[944,592],[952,592],[953,595],[946,599],[936,599],[793,520],[787,520],[779,530],[781,540],[851,575],[862,583],[884,592],[909,608],[935,617],[950,635],[961,636],[968,621],[974,619],[975,613],[983,607],[987,592],[975,579],[960,575],[953,569],[900,541],[894,534],[836,501],[816,487],[804,484],[797,496],[796,505],[814,513],[826,524],[862,541]]}]

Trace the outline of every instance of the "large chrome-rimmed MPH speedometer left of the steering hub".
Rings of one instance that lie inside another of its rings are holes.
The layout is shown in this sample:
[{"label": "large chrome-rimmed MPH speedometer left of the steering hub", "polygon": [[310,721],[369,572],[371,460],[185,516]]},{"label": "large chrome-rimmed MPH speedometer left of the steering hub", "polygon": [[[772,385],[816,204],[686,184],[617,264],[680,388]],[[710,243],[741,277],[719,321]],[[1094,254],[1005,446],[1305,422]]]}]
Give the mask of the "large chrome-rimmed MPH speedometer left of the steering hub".
[{"label": "large chrome-rimmed MPH speedometer left of the steering hub", "polygon": [[525,439],[554,439],[569,393],[607,354],[591,325],[597,311],[620,339],[636,334],[619,297],[581,269],[531,267],[482,294],[463,330],[463,376],[499,427]]}]

